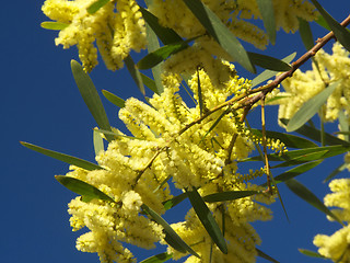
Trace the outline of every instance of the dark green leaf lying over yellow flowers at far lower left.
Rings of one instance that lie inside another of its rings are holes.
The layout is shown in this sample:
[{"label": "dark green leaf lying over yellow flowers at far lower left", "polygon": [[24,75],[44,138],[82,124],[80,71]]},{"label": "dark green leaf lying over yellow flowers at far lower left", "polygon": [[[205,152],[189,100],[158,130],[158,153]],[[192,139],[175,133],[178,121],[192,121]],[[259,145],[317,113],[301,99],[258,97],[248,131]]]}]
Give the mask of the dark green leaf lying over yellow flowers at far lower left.
[{"label": "dark green leaf lying over yellow flowers at far lower left", "polygon": [[96,188],[95,186],[85,183],[79,179],[70,178],[67,175],[55,175],[55,179],[65,187],[81,195],[85,201],[103,199],[115,202],[112,197]]}]

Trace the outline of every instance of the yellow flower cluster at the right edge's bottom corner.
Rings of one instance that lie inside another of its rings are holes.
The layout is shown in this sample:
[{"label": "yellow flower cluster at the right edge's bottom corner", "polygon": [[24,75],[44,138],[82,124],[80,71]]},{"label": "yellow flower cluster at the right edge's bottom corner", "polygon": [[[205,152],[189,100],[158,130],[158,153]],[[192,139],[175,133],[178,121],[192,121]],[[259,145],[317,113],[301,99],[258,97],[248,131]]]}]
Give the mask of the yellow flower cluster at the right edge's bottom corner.
[{"label": "yellow flower cluster at the right edge's bottom corner", "polygon": [[[331,194],[325,196],[326,206],[336,206],[332,213],[347,226],[331,236],[317,235],[314,244],[318,247],[318,253],[334,262],[348,263],[350,261],[350,179],[332,180],[329,183]],[[328,217],[328,219],[330,219]]]}]

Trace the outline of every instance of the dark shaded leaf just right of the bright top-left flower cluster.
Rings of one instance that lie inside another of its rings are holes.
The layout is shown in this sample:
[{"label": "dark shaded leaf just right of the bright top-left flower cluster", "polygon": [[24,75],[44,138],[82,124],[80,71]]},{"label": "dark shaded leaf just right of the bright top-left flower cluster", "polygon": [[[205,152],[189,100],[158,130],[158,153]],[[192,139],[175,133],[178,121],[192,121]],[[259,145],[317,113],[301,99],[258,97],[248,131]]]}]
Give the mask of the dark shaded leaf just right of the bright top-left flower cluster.
[{"label": "dark shaded leaf just right of the bright top-left flower cluster", "polygon": [[164,45],[183,42],[183,38],[174,30],[160,25],[159,19],[154,14],[142,7],[140,7],[140,11],[147,24],[152,28],[152,31],[155,33],[155,35],[158,35]]}]

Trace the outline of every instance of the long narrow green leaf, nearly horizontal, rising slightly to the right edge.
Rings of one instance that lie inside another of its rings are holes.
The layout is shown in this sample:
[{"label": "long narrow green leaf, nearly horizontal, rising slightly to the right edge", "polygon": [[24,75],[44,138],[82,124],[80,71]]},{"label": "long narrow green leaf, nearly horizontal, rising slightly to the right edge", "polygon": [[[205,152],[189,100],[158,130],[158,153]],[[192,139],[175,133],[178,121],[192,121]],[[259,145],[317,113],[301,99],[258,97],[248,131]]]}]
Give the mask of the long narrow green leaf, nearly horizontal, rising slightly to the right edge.
[{"label": "long narrow green leaf, nearly horizontal, rising slightly to the right edge", "polygon": [[[338,156],[341,153],[345,153],[347,151],[350,150],[349,146],[325,146],[325,147],[315,147],[315,148],[305,148],[302,150],[291,150],[291,151],[287,151],[284,152],[282,156],[279,156],[278,153],[272,153],[272,155],[268,155],[268,159],[269,161],[290,161],[293,160],[295,158],[300,158],[299,160],[302,161],[303,160],[303,156],[305,156],[305,161],[312,161],[311,157],[307,156],[310,153],[316,153],[316,152],[323,152],[322,159],[328,158],[328,157],[334,157],[334,156]],[[324,152],[327,151],[327,152]],[[250,157],[247,159],[243,159],[241,160],[243,161],[262,161],[260,156],[256,156],[256,157]]]}]

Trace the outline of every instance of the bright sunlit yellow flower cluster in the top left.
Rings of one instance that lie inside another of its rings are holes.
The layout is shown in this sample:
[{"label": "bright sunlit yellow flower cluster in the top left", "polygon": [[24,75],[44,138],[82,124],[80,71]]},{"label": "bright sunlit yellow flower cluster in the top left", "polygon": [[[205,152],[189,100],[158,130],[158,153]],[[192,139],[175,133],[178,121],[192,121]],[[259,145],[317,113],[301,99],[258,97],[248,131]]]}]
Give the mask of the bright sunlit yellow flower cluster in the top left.
[{"label": "bright sunlit yellow flower cluster in the top left", "polygon": [[145,47],[145,27],[135,0],[109,1],[94,14],[88,8],[95,0],[46,0],[43,12],[51,20],[68,24],[59,32],[56,45],[77,45],[85,71],[97,65],[98,46],[106,67],[116,70],[130,50]]}]

